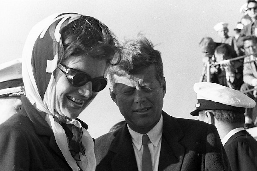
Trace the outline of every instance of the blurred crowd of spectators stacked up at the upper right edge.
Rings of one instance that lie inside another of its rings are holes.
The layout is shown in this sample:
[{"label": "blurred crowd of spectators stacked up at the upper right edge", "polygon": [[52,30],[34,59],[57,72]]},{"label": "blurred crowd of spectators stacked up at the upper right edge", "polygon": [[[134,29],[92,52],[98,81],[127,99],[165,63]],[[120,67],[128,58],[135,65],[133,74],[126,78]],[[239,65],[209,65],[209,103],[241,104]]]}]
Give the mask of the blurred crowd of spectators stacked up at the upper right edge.
[{"label": "blurred crowd of spectators stacked up at the upper right edge", "polygon": [[[203,37],[200,41],[204,65],[200,82],[221,84],[257,101],[257,2],[248,0],[239,12],[242,17],[238,23],[222,21],[213,26],[219,42],[211,37]],[[230,35],[229,24],[236,25],[234,36]],[[246,109],[245,128],[256,126],[256,115],[256,107]]]}]

